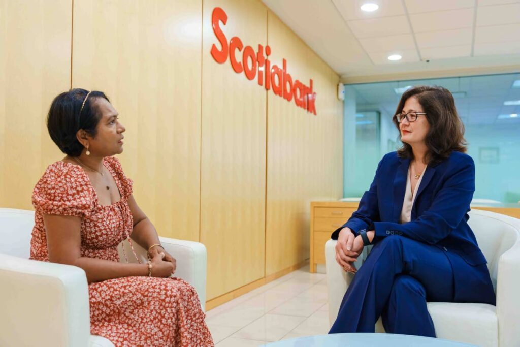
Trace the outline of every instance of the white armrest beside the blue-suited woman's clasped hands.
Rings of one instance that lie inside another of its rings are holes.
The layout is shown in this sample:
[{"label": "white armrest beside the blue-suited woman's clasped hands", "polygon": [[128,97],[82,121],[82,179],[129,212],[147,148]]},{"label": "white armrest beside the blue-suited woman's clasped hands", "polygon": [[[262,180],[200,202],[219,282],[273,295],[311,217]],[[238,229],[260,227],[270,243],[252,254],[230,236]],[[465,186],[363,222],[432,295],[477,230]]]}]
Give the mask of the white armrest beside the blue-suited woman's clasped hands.
[{"label": "white armrest beside the blue-suited woman's clasped hands", "polygon": [[[341,301],[343,295],[347,291],[348,285],[352,282],[354,274],[347,273],[344,269],[336,262],[336,240],[328,240],[325,243],[325,267],[327,271],[327,289],[329,294],[329,325],[332,326],[336,320],[337,313],[340,311]],[[363,252],[358,257],[358,260],[354,263],[356,268],[363,263],[363,259],[366,258],[367,250],[363,249]]]}]

